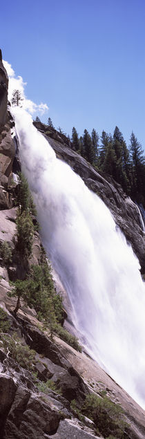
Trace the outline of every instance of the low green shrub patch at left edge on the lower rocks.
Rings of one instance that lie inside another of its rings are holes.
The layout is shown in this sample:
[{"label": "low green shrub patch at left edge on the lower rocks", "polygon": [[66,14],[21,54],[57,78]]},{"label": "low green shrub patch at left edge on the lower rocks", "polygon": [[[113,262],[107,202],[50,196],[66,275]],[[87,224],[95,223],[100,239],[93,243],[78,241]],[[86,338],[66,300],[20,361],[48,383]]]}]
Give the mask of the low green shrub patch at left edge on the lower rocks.
[{"label": "low green shrub patch at left edge on the lower rocks", "polygon": [[24,345],[16,333],[13,336],[1,334],[1,341],[8,357],[13,358],[23,368],[30,371],[34,369],[35,351]]}]

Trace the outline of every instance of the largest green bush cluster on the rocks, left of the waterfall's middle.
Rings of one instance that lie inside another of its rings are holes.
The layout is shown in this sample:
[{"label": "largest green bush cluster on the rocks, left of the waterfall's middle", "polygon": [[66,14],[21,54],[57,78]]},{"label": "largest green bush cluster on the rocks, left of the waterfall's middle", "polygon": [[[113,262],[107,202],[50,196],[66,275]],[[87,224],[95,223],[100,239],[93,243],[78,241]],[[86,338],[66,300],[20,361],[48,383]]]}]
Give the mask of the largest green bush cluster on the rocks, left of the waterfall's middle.
[{"label": "largest green bush cluster on the rocks, left of the waterfall's middle", "polygon": [[17,296],[16,314],[20,306],[20,299],[37,311],[37,318],[48,326],[50,333],[55,328],[56,322],[62,321],[62,299],[55,291],[52,281],[50,265],[32,265],[28,278],[25,281],[18,280],[14,283],[14,289],[10,295]]}]

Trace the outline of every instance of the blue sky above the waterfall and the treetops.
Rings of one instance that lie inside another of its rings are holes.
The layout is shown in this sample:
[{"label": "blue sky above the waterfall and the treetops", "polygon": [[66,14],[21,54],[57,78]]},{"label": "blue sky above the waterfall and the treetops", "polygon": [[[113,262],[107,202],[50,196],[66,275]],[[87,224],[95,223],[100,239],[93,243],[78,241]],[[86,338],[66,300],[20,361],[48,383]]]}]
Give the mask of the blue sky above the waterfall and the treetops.
[{"label": "blue sky above the waterfall and the treetops", "polygon": [[[55,127],[117,125],[145,148],[144,0],[13,0],[1,4],[3,59]],[[35,114],[36,116],[37,114]]]}]

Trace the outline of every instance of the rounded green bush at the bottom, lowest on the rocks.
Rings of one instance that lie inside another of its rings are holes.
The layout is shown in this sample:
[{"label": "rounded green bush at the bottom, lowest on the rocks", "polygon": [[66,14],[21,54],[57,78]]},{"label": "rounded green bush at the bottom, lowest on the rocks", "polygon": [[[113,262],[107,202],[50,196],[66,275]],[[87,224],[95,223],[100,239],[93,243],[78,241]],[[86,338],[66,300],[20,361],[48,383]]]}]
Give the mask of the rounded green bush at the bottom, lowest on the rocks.
[{"label": "rounded green bush at the bottom, lowest on the rocks", "polygon": [[119,404],[114,404],[106,397],[101,399],[92,393],[86,395],[81,412],[93,420],[104,438],[109,435],[113,435],[115,438],[124,438],[126,422],[124,422],[124,412]]}]

